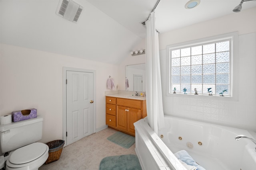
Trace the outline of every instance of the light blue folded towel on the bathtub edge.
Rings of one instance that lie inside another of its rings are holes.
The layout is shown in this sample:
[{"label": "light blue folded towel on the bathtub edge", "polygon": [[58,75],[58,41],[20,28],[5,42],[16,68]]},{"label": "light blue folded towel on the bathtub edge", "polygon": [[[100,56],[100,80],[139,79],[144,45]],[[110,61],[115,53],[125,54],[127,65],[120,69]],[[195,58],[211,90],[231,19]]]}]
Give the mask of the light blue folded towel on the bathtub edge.
[{"label": "light blue folded towel on the bathtub edge", "polygon": [[205,170],[202,166],[198,165],[196,161],[188,154],[186,150],[180,150],[174,154],[178,160],[185,162],[188,165],[196,166],[197,170]]}]

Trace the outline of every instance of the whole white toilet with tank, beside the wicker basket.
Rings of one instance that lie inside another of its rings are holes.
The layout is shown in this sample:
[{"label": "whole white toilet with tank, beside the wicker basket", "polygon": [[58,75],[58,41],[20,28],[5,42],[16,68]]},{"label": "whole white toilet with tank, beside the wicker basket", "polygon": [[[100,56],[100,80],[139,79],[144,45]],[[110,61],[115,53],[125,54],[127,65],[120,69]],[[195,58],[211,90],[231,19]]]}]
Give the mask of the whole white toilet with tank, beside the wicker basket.
[{"label": "whole white toilet with tank, beside the wicker basket", "polygon": [[37,170],[47,160],[48,145],[42,139],[43,118],[0,125],[0,149],[10,152],[6,170]]}]

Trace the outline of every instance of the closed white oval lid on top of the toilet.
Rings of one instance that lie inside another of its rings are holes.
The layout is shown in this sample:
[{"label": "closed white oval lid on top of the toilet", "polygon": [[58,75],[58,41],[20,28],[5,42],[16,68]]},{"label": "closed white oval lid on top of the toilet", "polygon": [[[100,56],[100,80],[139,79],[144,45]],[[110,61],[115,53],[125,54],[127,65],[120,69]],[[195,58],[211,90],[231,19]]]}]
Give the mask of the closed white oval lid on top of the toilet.
[{"label": "closed white oval lid on top of the toilet", "polygon": [[10,155],[9,161],[12,164],[25,164],[31,162],[44,154],[47,145],[36,142],[14,150]]}]

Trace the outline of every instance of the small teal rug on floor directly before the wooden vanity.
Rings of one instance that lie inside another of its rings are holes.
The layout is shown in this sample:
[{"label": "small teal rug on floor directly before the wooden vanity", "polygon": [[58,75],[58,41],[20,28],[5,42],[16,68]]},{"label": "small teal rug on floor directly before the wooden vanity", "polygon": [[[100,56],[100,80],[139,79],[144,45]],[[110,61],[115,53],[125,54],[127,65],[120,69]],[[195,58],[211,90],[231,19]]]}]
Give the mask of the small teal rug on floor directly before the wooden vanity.
[{"label": "small teal rug on floor directly before the wooden vanity", "polygon": [[122,133],[120,131],[114,133],[107,139],[125,149],[130,148],[135,143],[135,137],[128,135],[126,133]]}]

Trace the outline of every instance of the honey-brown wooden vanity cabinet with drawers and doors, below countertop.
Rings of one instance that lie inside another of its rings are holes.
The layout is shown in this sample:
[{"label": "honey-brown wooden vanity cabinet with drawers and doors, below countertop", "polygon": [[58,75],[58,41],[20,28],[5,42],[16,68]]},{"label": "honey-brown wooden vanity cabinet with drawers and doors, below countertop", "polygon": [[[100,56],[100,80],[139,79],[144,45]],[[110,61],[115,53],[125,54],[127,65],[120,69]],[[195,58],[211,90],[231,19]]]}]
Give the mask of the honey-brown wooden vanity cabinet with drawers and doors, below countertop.
[{"label": "honey-brown wooden vanity cabinet with drawers and doors, below countertop", "polygon": [[146,100],[106,96],[106,125],[109,127],[135,136],[133,123],[146,116]]}]

